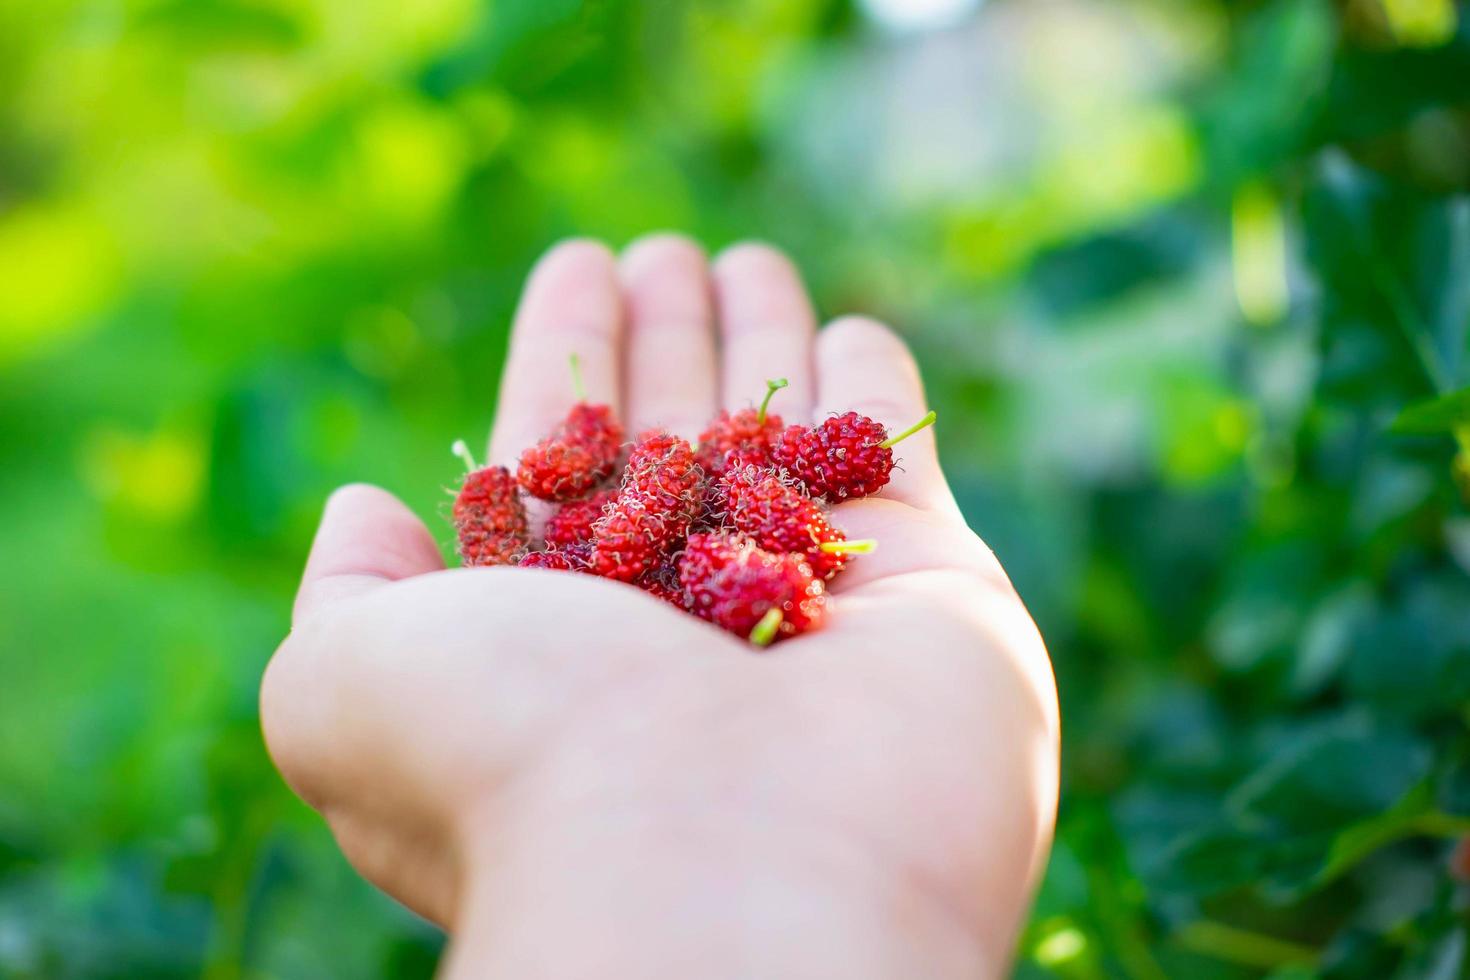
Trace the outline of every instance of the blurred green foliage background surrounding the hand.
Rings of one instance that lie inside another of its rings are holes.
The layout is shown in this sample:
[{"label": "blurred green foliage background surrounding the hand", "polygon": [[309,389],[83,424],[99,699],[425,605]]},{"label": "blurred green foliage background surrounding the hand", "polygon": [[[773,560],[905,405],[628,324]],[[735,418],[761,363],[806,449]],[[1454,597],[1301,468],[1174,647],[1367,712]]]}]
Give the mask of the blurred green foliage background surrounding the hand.
[{"label": "blurred green foliage background surrounding the hand", "polygon": [[660,228],[926,366],[1064,707],[1017,976],[1466,976],[1467,187],[1449,0],[0,0],[0,976],[431,974],[256,683]]}]

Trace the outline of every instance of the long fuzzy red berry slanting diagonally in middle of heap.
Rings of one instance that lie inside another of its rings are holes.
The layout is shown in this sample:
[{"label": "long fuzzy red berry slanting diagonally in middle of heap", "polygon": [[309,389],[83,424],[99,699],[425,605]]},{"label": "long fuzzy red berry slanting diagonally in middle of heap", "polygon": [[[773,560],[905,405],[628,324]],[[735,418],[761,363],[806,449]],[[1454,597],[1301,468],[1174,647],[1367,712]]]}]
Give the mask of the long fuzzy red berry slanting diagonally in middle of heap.
[{"label": "long fuzzy red berry slanting diagonally in middle of heap", "polygon": [[628,454],[617,497],[592,525],[592,570],[637,582],[689,532],[704,507],[704,472],[688,442],[647,432]]}]

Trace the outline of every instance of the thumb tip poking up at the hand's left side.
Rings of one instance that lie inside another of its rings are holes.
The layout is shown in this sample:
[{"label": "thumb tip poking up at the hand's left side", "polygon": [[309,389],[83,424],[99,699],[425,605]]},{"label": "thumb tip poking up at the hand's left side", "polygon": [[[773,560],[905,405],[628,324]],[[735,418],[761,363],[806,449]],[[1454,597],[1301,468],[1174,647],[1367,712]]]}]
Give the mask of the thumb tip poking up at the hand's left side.
[{"label": "thumb tip poking up at the hand's left side", "polygon": [[444,567],[423,522],[388,491],[343,486],[326,501],[306,560],[293,623],[337,599]]}]

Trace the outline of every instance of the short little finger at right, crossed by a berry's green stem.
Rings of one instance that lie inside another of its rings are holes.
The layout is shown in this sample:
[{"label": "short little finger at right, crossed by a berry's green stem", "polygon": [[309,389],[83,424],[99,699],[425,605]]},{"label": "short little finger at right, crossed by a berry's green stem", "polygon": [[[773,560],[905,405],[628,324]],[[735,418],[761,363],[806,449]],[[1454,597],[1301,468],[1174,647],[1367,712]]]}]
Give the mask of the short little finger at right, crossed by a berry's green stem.
[{"label": "short little finger at right, crossed by a berry's green stem", "polygon": [[[928,411],[919,366],[908,345],[891,329],[860,316],[833,320],[816,341],[816,417],[858,411],[898,433]],[[954,508],[933,429],[923,429],[894,447],[894,473],[882,495],[914,507]]]}]

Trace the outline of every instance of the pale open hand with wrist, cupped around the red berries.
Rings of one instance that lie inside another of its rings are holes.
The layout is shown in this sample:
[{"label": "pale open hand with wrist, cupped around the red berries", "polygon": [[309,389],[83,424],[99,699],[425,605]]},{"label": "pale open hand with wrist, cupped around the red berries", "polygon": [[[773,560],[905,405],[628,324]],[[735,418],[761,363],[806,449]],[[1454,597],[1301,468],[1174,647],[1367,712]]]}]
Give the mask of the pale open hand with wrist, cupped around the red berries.
[{"label": "pale open hand with wrist, cupped around the red berries", "polygon": [[[635,432],[695,438],[775,376],[788,423],[929,408],[892,331],[819,331],[757,244],[553,248],[492,461],[564,414],[572,353]],[[1057,802],[1051,667],[932,430],[897,454],[832,517],[878,551],[823,630],[764,652],[614,582],[445,570],[404,504],[347,486],[265,676],[270,754],[363,876],[450,932],[448,980],[1004,976]]]}]

